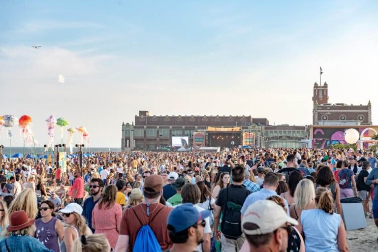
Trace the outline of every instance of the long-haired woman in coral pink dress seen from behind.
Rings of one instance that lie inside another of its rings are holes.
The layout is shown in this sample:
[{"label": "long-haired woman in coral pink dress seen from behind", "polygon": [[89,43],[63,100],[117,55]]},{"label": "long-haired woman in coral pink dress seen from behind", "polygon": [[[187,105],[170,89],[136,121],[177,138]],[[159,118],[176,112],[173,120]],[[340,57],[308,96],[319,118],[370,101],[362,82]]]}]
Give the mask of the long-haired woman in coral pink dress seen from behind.
[{"label": "long-haired woman in coral pink dress seen from behind", "polygon": [[106,186],[92,212],[92,228],[95,229],[95,234],[104,234],[112,248],[116,247],[122,219],[122,207],[116,203],[116,195],[116,186]]}]

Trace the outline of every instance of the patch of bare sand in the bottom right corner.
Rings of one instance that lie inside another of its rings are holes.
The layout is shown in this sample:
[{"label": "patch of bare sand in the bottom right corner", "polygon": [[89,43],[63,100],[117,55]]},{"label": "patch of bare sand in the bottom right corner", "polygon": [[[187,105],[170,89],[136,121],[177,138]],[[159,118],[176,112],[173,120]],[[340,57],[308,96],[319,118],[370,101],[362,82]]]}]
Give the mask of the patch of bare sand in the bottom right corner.
[{"label": "patch of bare sand in the bottom right corner", "polygon": [[378,251],[378,228],[374,219],[366,218],[367,227],[364,229],[347,231],[347,243],[350,252]]}]

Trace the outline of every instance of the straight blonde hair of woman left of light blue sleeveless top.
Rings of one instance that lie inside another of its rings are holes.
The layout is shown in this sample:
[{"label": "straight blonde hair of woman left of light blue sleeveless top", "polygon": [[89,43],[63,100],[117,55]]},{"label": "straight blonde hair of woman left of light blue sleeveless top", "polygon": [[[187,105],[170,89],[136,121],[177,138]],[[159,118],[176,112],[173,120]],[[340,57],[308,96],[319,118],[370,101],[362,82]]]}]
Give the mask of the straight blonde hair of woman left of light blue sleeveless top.
[{"label": "straight blonde hair of woman left of light blue sleeveless top", "polygon": [[299,181],[294,192],[294,202],[298,210],[305,210],[315,199],[314,183],[309,179]]}]

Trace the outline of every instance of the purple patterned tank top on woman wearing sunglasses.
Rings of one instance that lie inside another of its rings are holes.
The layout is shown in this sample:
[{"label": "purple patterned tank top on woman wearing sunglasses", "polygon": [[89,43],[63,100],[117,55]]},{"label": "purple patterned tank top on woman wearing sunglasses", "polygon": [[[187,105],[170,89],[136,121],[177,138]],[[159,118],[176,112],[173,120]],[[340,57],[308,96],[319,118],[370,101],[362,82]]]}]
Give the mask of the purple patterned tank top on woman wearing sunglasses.
[{"label": "purple patterned tank top on woman wearing sunglasses", "polygon": [[57,220],[57,218],[53,217],[46,223],[43,222],[42,219],[35,221],[35,238],[37,238],[46,248],[54,252],[59,252],[58,233],[55,230],[55,223]]}]

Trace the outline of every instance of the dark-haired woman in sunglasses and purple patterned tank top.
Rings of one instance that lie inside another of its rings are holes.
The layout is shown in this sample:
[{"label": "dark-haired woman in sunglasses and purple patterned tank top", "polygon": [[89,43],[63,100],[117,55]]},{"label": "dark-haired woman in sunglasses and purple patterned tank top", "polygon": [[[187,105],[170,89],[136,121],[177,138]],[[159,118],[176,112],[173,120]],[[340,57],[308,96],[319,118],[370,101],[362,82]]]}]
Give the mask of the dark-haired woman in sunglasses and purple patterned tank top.
[{"label": "dark-haired woman in sunglasses and purple patterned tank top", "polygon": [[37,238],[46,248],[52,251],[59,251],[59,241],[63,240],[62,221],[54,217],[54,202],[45,200],[41,202],[38,208],[41,213],[41,219],[35,221],[35,238]]}]

